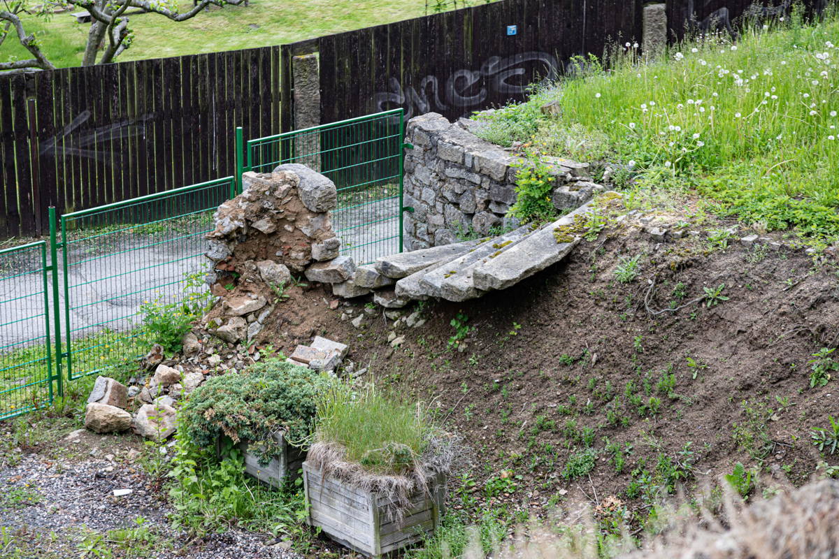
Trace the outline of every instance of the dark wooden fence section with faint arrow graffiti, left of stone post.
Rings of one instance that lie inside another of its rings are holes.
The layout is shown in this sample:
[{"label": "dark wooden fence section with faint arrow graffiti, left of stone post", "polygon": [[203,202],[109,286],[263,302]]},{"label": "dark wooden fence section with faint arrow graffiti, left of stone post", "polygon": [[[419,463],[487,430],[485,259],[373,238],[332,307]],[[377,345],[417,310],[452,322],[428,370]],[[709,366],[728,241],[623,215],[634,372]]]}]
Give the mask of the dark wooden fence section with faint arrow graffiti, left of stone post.
[{"label": "dark wooden fence section with faint arrow graffiti, left of stone post", "polygon": [[0,239],[60,212],[234,173],[279,132],[279,47],[0,77]]}]

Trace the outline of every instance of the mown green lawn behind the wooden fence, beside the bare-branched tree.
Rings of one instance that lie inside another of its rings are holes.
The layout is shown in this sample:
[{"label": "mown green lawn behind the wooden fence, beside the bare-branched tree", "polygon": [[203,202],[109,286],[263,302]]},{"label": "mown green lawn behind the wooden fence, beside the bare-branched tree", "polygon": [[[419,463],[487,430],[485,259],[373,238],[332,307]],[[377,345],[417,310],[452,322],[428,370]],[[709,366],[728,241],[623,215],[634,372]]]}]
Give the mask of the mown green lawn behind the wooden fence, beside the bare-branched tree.
[{"label": "mown green lawn behind the wooden fence, beside the bare-branched tree", "polygon": [[[178,5],[186,12],[192,3]],[[133,43],[118,60],[291,43],[424,14],[425,0],[250,0],[248,7],[210,7],[181,23],[152,13],[134,14],[129,17]],[[50,23],[24,21],[30,33],[39,34],[55,65],[81,65],[89,23],[76,23],[70,13],[57,13]],[[0,60],[29,58],[27,54],[12,37],[0,47]]]}]

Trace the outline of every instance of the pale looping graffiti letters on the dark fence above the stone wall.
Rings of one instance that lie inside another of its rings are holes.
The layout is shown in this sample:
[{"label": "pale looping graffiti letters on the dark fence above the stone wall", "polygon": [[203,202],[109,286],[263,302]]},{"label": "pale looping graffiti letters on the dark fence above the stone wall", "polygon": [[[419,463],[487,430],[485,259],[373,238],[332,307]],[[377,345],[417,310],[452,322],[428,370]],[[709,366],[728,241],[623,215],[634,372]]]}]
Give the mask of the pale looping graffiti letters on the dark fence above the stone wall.
[{"label": "pale looping graffiti letters on the dark fence above the stone wall", "polygon": [[[513,54],[505,58],[492,56],[481,65],[480,70],[461,69],[452,72],[441,84],[436,75],[426,75],[417,87],[404,88],[399,80],[390,78],[390,91],[381,91],[373,97],[376,111],[387,111],[393,106],[405,109],[405,118],[414,114],[425,114],[430,111],[447,111],[450,107],[460,107],[464,112],[477,106],[482,106],[490,96],[507,96],[507,98],[524,96],[529,77],[525,76],[525,65],[535,65],[545,80],[555,80],[559,65],[552,54],[531,51]],[[516,76],[525,76],[521,83],[511,81]],[[478,91],[472,91],[481,80],[486,80],[487,86]]]}]

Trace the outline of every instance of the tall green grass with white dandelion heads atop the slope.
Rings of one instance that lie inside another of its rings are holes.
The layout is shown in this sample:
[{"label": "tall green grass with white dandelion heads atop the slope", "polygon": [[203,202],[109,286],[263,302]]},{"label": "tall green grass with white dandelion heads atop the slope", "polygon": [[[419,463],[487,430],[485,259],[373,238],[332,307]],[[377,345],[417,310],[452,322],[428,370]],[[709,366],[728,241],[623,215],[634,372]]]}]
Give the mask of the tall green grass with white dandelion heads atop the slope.
[{"label": "tall green grass with white dandelion heads atop the slope", "polygon": [[[658,60],[625,44],[611,58],[609,70],[581,61],[557,85],[560,115],[542,118],[534,142],[574,156],[591,151],[593,138],[608,158],[676,179],[719,214],[758,229],[839,235],[835,6],[817,23],[794,14],[745,28],[736,42],[700,37]],[[583,141],[556,142],[569,130]]]}]

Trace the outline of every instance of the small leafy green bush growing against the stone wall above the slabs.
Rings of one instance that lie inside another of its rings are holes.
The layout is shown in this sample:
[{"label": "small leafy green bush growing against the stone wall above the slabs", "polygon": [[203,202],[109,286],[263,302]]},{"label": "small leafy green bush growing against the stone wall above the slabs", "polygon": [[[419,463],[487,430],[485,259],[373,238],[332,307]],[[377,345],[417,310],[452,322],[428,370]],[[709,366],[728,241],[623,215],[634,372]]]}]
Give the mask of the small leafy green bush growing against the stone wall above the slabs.
[{"label": "small leafy green bush growing against the stone wall above the slabs", "polygon": [[516,203],[509,214],[518,217],[522,223],[544,221],[556,214],[551,191],[555,179],[553,168],[545,163],[538,151],[529,149],[524,160],[516,163]]}]

